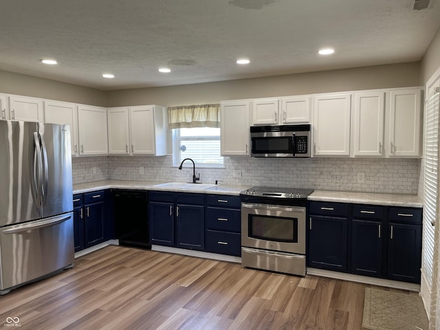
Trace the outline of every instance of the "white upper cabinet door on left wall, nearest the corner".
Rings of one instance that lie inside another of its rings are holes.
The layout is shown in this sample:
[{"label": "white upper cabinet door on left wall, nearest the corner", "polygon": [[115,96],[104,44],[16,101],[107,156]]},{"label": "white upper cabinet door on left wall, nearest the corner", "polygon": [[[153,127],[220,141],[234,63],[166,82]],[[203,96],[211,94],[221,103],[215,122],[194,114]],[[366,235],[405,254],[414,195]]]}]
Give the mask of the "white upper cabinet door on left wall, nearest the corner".
[{"label": "white upper cabinet door on left wall, nearest the corner", "polygon": [[107,109],[78,105],[80,155],[107,155]]}]

